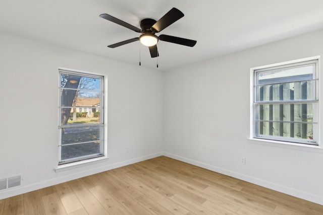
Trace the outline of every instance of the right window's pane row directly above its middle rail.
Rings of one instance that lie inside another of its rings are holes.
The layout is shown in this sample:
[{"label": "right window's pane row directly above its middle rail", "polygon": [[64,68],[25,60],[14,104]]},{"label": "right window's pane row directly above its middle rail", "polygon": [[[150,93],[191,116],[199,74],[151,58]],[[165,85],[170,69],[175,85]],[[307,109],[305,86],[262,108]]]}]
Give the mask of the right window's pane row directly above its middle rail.
[{"label": "right window's pane row directly above its middle rail", "polygon": [[257,86],[257,102],[293,100],[315,100],[315,81]]}]

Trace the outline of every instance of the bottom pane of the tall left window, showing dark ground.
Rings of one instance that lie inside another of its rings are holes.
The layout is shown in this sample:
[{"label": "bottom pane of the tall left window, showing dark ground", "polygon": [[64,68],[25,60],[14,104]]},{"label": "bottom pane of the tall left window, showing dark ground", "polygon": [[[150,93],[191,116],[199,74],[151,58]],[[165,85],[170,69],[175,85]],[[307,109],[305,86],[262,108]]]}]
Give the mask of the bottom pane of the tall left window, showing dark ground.
[{"label": "bottom pane of the tall left window, showing dark ground", "polygon": [[62,146],[61,160],[100,154],[100,142]]}]

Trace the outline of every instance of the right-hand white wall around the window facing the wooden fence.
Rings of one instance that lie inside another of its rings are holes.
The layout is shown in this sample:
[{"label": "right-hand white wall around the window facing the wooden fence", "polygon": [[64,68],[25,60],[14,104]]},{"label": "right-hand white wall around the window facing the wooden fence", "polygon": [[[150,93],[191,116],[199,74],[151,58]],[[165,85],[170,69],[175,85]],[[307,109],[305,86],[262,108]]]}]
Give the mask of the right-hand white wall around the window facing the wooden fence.
[{"label": "right-hand white wall around the window facing the wooden fence", "polygon": [[[322,38],[317,31],[167,71],[166,155],[323,204],[322,150],[248,140],[250,68],[323,56]],[[322,115],[323,106],[320,122]]]}]

